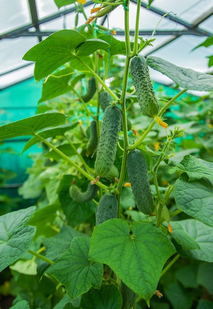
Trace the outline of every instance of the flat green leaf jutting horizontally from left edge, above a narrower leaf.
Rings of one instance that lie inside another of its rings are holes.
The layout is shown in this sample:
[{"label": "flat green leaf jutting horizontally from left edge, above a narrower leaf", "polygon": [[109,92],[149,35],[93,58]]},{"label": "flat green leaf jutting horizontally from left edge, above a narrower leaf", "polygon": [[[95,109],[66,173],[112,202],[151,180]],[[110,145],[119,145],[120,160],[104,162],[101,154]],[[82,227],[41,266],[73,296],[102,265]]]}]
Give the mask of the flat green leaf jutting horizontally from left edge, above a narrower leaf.
[{"label": "flat green leaf jutting horizontally from left edge, above a narrower leaf", "polygon": [[0,126],[0,141],[8,138],[34,135],[37,131],[64,123],[66,116],[57,112],[47,112]]}]

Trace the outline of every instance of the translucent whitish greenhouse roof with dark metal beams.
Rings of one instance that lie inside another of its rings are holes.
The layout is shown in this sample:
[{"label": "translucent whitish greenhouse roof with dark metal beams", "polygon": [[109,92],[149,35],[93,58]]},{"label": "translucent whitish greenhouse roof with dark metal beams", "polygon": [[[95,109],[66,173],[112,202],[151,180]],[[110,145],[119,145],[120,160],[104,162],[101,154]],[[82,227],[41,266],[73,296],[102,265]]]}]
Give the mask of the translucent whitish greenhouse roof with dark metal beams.
[{"label": "translucent whitish greenhouse roof with dark metal beams", "polygon": [[[57,2],[57,1],[55,1]],[[75,26],[75,3],[58,9],[54,0],[1,0],[0,10],[0,89],[33,77],[34,63],[22,60],[23,55],[35,44],[61,29]],[[68,1],[64,1],[67,3]],[[130,35],[134,35],[136,0],[129,6]],[[139,36],[150,39],[157,26],[153,46],[143,55],[152,54],[181,66],[199,72],[210,72],[208,56],[213,47],[193,50],[208,37],[213,36],[212,0],[154,0],[147,9],[148,1],[141,1]],[[85,3],[85,13],[90,16],[94,2]],[[169,14],[162,20],[165,13]],[[85,23],[79,14],[79,24]],[[124,40],[124,8],[98,20],[98,23],[116,30],[116,38]],[[160,23],[159,23],[160,22]],[[168,77],[153,79],[168,83]]]}]

